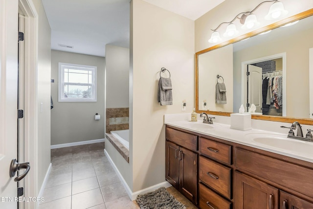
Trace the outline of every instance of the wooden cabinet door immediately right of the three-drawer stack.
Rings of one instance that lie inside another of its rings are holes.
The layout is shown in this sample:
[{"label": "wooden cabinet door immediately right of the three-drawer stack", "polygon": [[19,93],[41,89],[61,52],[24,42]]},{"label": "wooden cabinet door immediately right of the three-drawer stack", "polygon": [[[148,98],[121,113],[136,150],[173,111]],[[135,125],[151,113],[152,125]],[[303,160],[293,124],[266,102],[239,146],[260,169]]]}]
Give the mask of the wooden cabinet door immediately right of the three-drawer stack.
[{"label": "wooden cabinet door immediately right of the three-drawer stack", "polygon": [[278,209],[278,189],[235,171],[235,209]]}]

